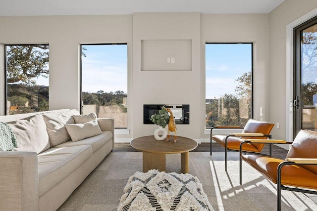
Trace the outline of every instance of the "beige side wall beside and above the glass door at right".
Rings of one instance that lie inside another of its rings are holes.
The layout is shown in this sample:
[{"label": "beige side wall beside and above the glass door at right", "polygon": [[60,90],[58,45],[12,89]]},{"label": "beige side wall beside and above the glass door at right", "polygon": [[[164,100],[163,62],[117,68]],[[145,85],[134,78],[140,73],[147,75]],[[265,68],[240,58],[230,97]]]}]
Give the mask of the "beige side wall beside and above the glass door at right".
[{"label": "beige side wall beside and above the glass door at right", "polygon": [[[287,79],[287,25],[300,19],[313,9],[317,8],[316,0],[285,0],[269,14],[269,120],[279,122],[280,128],[274,127],[272,135],[274,138],[285,139],[289,137],[286,121],[289,100],[286,92],[287,82],[292,84],[292,79]],[[317,15],[317,12],[315,14]],[[303,22],[305,19],[303,19]],[[301,21],[298,24],[302,23]],[[295,24],[296,25],[296,24]],[[291,51],[292,49],[289,49]],[[288,73],[289,74],[289,73]],[[288,80],[288,81],[287,81]],[[288,101],[288,102],[287,102]]]}]

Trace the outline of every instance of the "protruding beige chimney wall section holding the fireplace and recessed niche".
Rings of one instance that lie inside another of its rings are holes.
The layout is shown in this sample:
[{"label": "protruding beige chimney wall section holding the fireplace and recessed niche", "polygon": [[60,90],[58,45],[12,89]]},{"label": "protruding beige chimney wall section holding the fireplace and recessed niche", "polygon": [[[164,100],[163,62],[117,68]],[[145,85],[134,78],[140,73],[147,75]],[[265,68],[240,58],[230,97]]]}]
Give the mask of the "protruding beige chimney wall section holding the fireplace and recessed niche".
[{"label": "protruding beige chimney wall section holding the fireplace and recessed niche", "polygon": [[[141,40],[191,40],[192,70],[141,71]],[[177,134],[199,140],[200,13],[135,13],[133,46],[133,137],[150,135],[157,127],[143,125],[143,104],[189,104],[190,125],[177,125]]]}]

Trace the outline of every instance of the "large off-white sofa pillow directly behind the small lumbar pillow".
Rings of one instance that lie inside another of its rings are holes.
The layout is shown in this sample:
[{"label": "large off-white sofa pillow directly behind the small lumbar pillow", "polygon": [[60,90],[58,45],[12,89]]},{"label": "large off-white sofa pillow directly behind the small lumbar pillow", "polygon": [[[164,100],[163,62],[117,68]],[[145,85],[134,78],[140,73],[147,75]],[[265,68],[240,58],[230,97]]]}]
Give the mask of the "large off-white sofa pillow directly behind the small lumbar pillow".
[{"label": "large off-white sofa pillow directly behind the small lumbar pillow", "polygon": [[56,146],[70,140],[70,136],[65,125],[75,123],[72,116],[79,115],[78,111],[70,110],[64,112],[45,113],[42,115],[50,137],[51,146]]}]

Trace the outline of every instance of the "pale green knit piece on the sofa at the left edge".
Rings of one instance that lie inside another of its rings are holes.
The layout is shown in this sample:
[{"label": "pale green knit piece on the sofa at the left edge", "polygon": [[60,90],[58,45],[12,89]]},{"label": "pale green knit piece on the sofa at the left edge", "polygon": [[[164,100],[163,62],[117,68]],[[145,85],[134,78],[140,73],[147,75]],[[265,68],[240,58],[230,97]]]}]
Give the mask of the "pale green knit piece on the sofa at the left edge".
[{"label": "pale green knit piece on the sofa at the left edge", "polygon": [[10,126],[0,122],[0,151],[12,151],[16,147],[16,137]]}]

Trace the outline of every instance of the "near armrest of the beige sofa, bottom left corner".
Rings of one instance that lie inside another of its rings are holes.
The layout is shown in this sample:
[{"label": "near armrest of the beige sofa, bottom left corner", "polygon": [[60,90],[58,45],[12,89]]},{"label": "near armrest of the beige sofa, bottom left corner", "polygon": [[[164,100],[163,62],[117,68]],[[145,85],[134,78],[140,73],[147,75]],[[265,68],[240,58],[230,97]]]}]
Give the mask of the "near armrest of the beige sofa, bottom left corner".
[{"label": "near armrest of the beige sofa, bottom left corner", "polygon": [[38,210],[38,155],[0,152],[0,210]]}]

